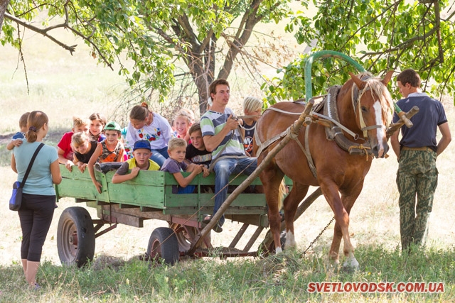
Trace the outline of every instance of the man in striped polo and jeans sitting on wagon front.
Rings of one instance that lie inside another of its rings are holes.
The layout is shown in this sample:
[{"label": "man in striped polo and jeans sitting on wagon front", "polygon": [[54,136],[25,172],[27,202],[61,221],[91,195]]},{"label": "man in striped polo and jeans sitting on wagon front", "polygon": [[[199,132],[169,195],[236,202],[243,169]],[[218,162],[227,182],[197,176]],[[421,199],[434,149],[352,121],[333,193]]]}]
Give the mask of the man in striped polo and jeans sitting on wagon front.
[{"label": "man in striped polo and jeans sitting on wagon front", "polygon": [[[240,172],[250,175],[257,167],[257,158],[245,154],[238,128],[241,120],[226,107],[230,98],[228,81],[216,79],[208,89],[213,104],[200,118],[200,128],[205,148],[212,152],[210,170],[215,171],[215,214],[228,195],[229,176]],[[206,216],[203,222],[207,224],[211,219],[212,216]],[[225,217],[221,216],[213,230],[223,231],[224,221]]]}]

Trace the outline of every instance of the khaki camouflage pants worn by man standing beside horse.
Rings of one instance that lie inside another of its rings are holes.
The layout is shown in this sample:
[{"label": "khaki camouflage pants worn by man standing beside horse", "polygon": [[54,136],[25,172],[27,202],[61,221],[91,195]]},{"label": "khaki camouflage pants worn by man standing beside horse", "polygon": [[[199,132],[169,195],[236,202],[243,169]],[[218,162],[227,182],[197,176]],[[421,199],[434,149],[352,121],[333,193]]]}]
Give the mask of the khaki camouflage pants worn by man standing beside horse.
[{"label": "khaki camouflage pants worn by man standing beside horse", "polygon": [[[438,184],[437,153],[433,150],[402,150],[397,172],[400,192],[402,250],[422,246],[427,237],[429,214]],[[417,195],[417,205],[415,203]]]}]

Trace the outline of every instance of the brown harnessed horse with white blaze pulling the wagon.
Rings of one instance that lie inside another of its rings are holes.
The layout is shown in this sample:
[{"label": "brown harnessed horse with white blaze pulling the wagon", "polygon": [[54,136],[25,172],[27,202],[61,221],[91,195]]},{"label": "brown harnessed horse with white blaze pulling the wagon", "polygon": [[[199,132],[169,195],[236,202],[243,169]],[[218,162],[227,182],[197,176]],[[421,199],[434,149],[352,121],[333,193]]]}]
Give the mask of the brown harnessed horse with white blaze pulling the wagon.
[{"label": "brown harnessed horse with white blaze pulling the wagon", "polygon": [[[326,130],[319,123],[310,123],[299,131],[296,138],[300,142],[289,141],[277,153],[273,160],[259,175],[269,206],[269,224],[274,238],[277,253],[281,252],[279,226],[279,184],[284,175],[294,182],[289,195],[284,199],[284,218],[286,219],[286,248],[295,246],[294,215],[297,206],[304,199],[309,186],[319,186],[331,206],[335,215],[336,224],[329,258],[336,264],[339,263],[338,252],[341,238],[344,241],[343,253],[346,255],[345,266],[358,268],[358,262],[353,254],[353,246],[349,237],[349,212],[355,199],[363,187],[365,175],[370,170],[370,165],[375,158],[384,157],[387,153],[386,127],[390,123],[393,102],[387,90],[387,83],[392,77],[392,71],[384,79],[373,77],[370,73],[357,76],[350,74],[349,79],[336,97],[336,111],[339,122],[345,126],[343,134],[349,141],[355,143],[357,148],[365,153],[352,154],[338,146],[336,141],[328,140]],[[264,147],[262,143],[269,143],[279,133],[285,131],[296,120],[296,115],[301,113],[304,105],[294,102],[280,102],[275,104],[275,110],[267,110],[257,121],[257,137],[254,150]],[[306,138],[306,128],[308,136]],[[305,141],[308,140],[307,145]],[[277,145],[278,141],[269,145],[262,151],[258,158],[258,165],[267,155],[267,150]],[[368,144],[369,143],[369,144]],[[314,163],[315,174],[311,172],[308,157],[304,153],[304,146],[309,147],[309,157]],[[369,146],[366,150],[365,146]],[[368,153],[366,152],[368,151]],[[316,177],[315,177],[316,175]]]}]

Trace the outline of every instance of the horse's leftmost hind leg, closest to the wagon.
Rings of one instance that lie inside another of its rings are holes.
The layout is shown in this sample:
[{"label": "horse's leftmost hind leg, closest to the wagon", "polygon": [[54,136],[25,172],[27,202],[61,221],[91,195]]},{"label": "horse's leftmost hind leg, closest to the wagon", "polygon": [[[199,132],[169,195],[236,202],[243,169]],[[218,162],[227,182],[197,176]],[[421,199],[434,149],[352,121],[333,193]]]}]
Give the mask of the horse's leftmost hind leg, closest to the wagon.
[{"label": "horse's leftmost hind leg, closest to the wagon", "polygon": [[275,162],[270,162],[267,167],[262,170],[259,175],[265,193],[267,206],[269,207],[269,226],[275,243],[275,253],[282,252],[281,242],[279,240],[279,230],[281,227],[281,216],[279,215],[279,184],[281,184],[284,174],[275,165]]}]

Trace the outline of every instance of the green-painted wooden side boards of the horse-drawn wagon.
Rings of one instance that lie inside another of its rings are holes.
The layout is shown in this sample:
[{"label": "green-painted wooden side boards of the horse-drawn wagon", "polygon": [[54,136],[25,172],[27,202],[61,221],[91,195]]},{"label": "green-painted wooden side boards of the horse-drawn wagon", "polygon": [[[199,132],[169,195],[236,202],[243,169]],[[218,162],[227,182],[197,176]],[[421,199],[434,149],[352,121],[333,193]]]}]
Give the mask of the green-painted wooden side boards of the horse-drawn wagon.
[{"label": "green-painted wooden side boards of the horse-drawn wagon", "polygon": [[[63,179],[55,186],[57,198],[72,197],[76,202],[87,202],[87,206],[97,207],[99,218],[105,221],[141,227],[144,219],[186,220],[191,225],[189,221],[200,221],[205,214],[213,213],[214,194],[206,193],[204,189],[213,189],[214,174],[208,177],[198,175],[191,182],[197,189],[193,194],[173,194],[173,188],[178,183],[168,172],[141,170],[133,180],[113,184],[114,171],[106,174],[95,171],[97,180],[102,184],[100,194],[92,184],[88,170],[82,173],[73,167],[70,172],[60,165],[60,172]],[[246,177],[232,177],[230,184],[241,184]],[[259,185],[261,182],[258,178],[252,184]],[[287,184],[291,184],[291,180],[287,179]],[[232,221],[267,227],[265,195],[240,194],[225,216]]]}]

